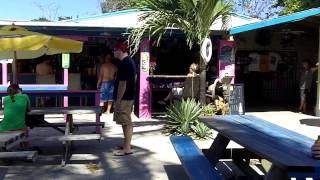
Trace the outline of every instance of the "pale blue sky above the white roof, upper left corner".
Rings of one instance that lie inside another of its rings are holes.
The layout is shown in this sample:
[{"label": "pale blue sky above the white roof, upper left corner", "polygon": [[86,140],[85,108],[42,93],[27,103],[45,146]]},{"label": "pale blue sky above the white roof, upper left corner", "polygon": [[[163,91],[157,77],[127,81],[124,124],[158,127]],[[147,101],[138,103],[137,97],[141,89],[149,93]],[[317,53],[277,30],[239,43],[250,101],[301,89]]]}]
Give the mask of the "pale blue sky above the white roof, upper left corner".
[{"label": "pale blue sky above the white roof, upper left corner", "polygon": [[100,0],[2,0],[0,20],[31,20],[39,17],[56,20],[100,14]]}]

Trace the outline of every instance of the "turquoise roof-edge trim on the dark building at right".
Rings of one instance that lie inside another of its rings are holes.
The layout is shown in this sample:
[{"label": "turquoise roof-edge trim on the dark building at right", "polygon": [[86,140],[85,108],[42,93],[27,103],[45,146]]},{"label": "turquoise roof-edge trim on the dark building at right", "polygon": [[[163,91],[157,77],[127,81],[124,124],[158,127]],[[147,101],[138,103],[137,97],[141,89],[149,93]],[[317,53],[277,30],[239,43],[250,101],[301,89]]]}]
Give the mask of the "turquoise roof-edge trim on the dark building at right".
[{"label": "turquoise roof-edge trim on the dark building at right", "polygon": [[267,19],[264,21],[260,21],[257,23],[252,23],[252,24],[247,24],[239,27],[234,27],[230,29],[230,34],[238,34],[241,32],[245,31],[250,31],[250,30],[255,30],[263,27],[268,27],[268,26],[273,26],[277,24],[282,24],[282,23],[287,23],[287,22],[292,22],[292,21],[298,21],[310,16],[315,16],[320,14],[320,8],[314,8],[314,9],[309,9],[306,11],[301,11],[298,13],[293,13],[287,16],[280,16],[278,18],[273,18],[273,19]]}]

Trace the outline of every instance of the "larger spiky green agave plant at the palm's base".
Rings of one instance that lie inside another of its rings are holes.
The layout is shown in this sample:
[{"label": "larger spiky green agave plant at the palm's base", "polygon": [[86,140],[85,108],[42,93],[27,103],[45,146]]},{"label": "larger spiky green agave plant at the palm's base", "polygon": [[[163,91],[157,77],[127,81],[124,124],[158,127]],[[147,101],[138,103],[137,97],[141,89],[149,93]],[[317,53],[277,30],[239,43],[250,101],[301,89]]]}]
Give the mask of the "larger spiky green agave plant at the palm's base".
[{"label": "larger spiky green agave plant at the palm's base", "polygon": [[170,134],[190,135],[192,126],[196,126],[201,114],[200,103],[194,99],[176,101],[167,108],[166,130]]}]

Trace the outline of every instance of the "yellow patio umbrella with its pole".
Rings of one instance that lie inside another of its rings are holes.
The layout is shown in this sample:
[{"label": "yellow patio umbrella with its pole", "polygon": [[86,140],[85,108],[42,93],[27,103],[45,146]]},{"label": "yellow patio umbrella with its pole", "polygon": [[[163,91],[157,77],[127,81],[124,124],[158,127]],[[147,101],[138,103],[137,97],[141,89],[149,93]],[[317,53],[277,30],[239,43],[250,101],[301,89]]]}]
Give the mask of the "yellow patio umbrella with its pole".
[{"label": "yellow patio umbrella with its pole", "polygon": [[0,59],[13,59],[13,82],[16,82],[16,60],[42,55],[80,53],[83,43],[71,39],[28,31],[20,26],[0,28]]}]

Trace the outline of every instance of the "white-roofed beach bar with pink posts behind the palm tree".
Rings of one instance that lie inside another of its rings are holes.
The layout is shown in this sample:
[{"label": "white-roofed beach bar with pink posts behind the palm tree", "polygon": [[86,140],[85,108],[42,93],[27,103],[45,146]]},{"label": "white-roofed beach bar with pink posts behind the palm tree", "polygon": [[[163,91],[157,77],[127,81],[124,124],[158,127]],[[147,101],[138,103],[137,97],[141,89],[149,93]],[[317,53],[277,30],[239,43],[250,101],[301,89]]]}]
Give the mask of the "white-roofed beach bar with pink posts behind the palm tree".
[{"label": "white-roofed beach bar with pink posts behind the palm tree", "polygon": [[[96,75],[99,56],[102,51],[111,50],[117,41],[126,39],[130,29],[139,27],[138,17],[140,14],[141,12],[137,10],[124,10],[59,22],[0,20],[0,26],[14,24],[23,26],[30,31],[83,41],[83,52],[71,54],[68,68],[63,68],[62,62],[58,60],[62,59],[61,55],[40,57],[40,60],[18,60],[17,79],[23,90],[28,93],[38,93],[38,95],[44,96],[50,93],[61,95],[63,92],[66,96],[75,96],[69,98],[69,105],[97,105],[99,93],[96,90]],[[255,18],[234,15],[231,17],[229,27],[258,21]],[[224,39],[227,34],[227,32],[221,31],[221,26],[222,23],[218,21],[211,27],[213,32],[211,38],[217,44],[214,47],[216,54],[219,40]],[[188,66],[197,58],[192,57],[194,54],[185,46],[184,36],[179,31],[174,31],[172,36],[165,37],[160,47],[153,46],[152,40],[146,39],[142,42],[141,52],[134,57],[139,70],[135,107],[140,118],[151,117],[153,102],[158,97],[152,95],[154,86],[150,84],[149,77],[152,74],[185,74]],[[35,67],[43,58],[51,59],[52,66],[55,68],[55,73],[46,78],[40,78],[35,74]],[[213,61],[217,61],[214,58],[215,56],[213,56]],[[150,69],[152,64],[150,61],[157,64],[154,71],[152,68]],[[12,78],[12,73],[11,66],[7,61],[2,61],[1,66],[0,91],[4,93]],[[169,86],[163,85],[162,88],[168,90]],[[52,105],[61,104],[62,101],[56,100]]]}]

